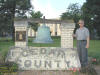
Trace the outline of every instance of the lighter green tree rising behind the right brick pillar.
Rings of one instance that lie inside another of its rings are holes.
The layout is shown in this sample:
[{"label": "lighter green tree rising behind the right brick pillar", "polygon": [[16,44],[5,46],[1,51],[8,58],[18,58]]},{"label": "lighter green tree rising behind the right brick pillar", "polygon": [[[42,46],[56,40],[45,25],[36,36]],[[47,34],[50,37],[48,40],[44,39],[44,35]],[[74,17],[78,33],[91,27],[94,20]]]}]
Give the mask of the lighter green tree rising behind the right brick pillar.
[{"label": "lighter green tree rising behind the right brick pillar", "polygon": [[70,4],[67,8],[67,11],[62,13],[61,15],[62,20],[67,20],[67,19],[74,20],[76,28],[79,26],[77,23],[80,18],[81,18],[81,7],[79,6],[78,3]]}]

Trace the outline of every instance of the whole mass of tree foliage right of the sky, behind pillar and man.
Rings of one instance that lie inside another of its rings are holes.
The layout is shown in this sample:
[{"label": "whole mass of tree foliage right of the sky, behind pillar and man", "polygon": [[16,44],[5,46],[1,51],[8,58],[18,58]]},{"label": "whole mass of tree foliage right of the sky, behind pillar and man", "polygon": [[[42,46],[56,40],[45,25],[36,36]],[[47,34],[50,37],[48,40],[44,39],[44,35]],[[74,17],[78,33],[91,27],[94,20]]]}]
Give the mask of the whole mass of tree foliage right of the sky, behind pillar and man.
[{"label": "whole mass of tree foliage right of the sky, behind pillar and man", "polygon": [[85,26],[90,30],[91,38],[98,38],[97,34],[100,36],[100,0],[86,0],[82,7],[77,3],[70,4],[67,11],[62,13],[61,19],[73,19],[76,28],[78,28],[78,20],[84,19]]}]

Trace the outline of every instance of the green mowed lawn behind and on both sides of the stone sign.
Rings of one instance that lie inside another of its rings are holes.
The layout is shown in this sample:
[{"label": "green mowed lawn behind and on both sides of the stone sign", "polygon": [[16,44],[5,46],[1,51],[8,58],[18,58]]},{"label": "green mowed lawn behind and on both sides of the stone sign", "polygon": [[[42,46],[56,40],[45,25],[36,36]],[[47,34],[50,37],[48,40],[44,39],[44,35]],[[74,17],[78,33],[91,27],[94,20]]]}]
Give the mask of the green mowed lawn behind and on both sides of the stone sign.
[{"label": "green mowed lawn behind and on both sides of the stone sign", "polygon": [[[52,37],[54,43],[52,44],[37,44],[32,43],[34,38],[29,38],[28,46],[33,47],[61,47],[60,37]],[[14,42],[11,39],[0,38],[0,57],[5,56],[11,46],[14,46]],[[74,47],[76,47],[76,40],[74,40]],[[100,40],[90,40],[90,48],[88,49],[88,55],[100,59]]]}]

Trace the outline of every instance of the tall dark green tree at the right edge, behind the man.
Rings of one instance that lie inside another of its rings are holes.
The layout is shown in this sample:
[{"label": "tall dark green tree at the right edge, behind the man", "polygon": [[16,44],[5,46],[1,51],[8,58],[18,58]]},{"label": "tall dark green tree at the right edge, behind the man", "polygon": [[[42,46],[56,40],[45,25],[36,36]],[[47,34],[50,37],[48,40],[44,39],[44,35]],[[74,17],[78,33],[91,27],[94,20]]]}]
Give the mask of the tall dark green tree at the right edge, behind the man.
[{"label": "tall dark green tree at the right edge, behind the man", "polygon": [[86,0],[82,10],[83,18],[91,32],[93,32],[93,29],[96,29],[98,36],[100,36],[100,0]]}]

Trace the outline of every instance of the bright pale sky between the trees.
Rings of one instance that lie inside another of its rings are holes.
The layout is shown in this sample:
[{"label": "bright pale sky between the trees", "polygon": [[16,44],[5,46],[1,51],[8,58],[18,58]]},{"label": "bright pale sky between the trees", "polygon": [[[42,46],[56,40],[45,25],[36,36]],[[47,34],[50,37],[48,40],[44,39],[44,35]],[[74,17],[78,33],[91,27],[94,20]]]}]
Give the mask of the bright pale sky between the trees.
[{"label": "bright pale sky between the trees", "polygon": [[83,5],[86,0],[31,0],[34,11],[41,11],[47,19],[56,19],[72,3]]}]

